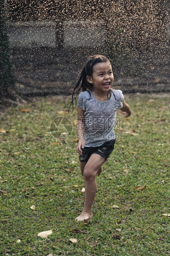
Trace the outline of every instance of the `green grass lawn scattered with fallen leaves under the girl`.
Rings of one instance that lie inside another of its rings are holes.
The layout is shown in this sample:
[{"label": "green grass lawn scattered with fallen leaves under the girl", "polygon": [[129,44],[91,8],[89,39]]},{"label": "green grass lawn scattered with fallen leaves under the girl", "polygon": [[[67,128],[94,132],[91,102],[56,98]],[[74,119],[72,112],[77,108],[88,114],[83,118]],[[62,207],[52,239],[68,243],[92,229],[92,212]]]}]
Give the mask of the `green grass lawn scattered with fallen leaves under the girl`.
[{"label": "green grass lawn scattered with fallen leaves under the girl", "polygon": [[[170,255],[170,217],[163,216],[170,214],[169,97],[125,101],[132,115],[117,111],[117,142],[96,178],[87,224],[74,221],[84,204],[76,109],[69,116],[55,96],[1,110],[0,255]],[[73,125],[64,140],[49,130],[58,116]],[[37,236],[47,230],[47,238]]]}]

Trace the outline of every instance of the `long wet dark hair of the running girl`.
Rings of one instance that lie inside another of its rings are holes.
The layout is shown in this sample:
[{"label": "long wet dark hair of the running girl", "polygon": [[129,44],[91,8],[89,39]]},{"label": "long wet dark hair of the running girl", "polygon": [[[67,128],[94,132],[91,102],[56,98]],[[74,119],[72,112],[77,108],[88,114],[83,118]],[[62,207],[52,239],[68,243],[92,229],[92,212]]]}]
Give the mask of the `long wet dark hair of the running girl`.
[{"label": "long wet dark hair of the running girl", "polygon": [[[70,92],[67,95],[72,95],[71,102],[69,104],[67,104],[67,105],[69,105],[69,111],[70,111],[70,109],[72,109],[71,113],[73,112],[74,108],[76,107],[76,97],[79,94],[80,90],[85,92],[85,91],[93,89],[92,83],[89,83],[87,81],[87,76],[91,76],[92,77],[93,67],[96,64],[101,63],[101,62],[108,62],[108,64],[110,64],[110,61],[108,60],[108,58],[103,56],[103,55],[93,55],[93,56],[91,56],[87,60],[85,66],[82,69],[82,71],[80,73],[80,76],[78,76],[76,82],[68,88],[67,93],[69,91]],[[110,92],[110,96],[111,96],[111,92]]]}]

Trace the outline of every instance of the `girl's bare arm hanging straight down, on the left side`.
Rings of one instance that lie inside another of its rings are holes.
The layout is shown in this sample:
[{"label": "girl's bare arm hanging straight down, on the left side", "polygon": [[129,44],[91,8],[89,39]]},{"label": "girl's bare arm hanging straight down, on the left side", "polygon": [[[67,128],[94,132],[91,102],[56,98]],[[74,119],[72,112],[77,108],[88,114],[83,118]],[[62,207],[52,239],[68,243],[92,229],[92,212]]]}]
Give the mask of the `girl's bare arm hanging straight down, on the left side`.
[{"label": "girl's bare arm hanging straight down, on the left side", "polygon": [[85,124],[84,124],[84,113],[85,111],[78,107],[77,109],[77,138],[78,138],[78,144],[77,144],[77,153],[82,155],[81,148],[84,148],[85,146],[85,140],[84,140],[84,133],[85,133]]}]

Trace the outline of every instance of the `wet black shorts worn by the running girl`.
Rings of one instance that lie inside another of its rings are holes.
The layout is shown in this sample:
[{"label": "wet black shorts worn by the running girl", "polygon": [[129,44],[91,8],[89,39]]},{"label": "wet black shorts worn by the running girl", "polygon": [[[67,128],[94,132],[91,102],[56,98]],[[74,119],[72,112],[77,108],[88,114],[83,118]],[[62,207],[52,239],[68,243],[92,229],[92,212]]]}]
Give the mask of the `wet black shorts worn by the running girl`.
[{"label": "wet black shorts worn by the running girl", "polygon": [[79,156],[80,162],[86,162],[89,160],[90,156],[92,154],[99,154],[105,158],[107,161],[108,157],[112,153],[114,146],[115,146],[115,140],[110,140],[105,143],[103,143],[101,146],[98,147],[84,147],[81,148],[83,154]]}]

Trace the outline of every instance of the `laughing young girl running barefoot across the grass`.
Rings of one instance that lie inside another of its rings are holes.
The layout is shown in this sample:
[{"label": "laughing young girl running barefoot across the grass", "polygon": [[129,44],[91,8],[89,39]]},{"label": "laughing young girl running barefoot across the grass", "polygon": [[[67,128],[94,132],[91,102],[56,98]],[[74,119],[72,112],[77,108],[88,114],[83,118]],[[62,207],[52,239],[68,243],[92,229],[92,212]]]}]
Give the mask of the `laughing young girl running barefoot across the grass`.
[{"label": "laughing young girl running barefoot across the grass", "polygon": [[125,118],[131,115],[122,91],[111,89],[112,83],[113,72],[109,60],[102,55],[94,55],[81,71],[72,93],[71,104],[83,90],[78,97],[77,152],[85,180],[85,206],[75,219],[77,221],[92,217],[92,203],[97,189],[96,175],[101,174],[101,166],[115,145],[113,128],[117,109]]}]

